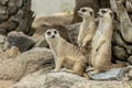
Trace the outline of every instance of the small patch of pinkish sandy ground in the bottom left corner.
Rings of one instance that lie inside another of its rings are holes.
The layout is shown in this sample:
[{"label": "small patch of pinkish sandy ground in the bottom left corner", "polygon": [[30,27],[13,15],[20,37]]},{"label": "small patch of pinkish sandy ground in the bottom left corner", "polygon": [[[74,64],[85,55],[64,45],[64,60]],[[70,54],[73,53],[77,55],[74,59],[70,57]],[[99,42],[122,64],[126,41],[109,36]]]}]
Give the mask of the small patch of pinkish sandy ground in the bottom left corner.
[{"label": "small patch of pinkish sandy ground in the bottom left corner", "polygon": [[0,88],[13,88],[13,84],[12,80],[0,80]]}]

